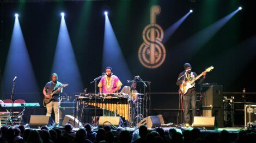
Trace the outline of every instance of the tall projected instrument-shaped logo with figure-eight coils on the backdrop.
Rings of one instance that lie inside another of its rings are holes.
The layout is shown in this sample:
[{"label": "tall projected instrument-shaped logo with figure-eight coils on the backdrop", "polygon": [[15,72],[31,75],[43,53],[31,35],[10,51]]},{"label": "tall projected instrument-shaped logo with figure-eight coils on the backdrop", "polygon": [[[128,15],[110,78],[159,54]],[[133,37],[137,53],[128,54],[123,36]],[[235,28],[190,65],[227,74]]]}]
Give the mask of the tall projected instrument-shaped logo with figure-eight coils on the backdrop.
[{"label": "tall projected instrument-shaped logo with figure-eight coils on the backdrop", "polygon": [[139,61],[144,67],[157,68],[161,66],[166,59],[166,49],[161,41],[163,40],[163,29],[156,24],[156,15],[160,14],[161,8],[159,5],[151,6],[150,24],[143,30],[143,41],[139,47]]}]

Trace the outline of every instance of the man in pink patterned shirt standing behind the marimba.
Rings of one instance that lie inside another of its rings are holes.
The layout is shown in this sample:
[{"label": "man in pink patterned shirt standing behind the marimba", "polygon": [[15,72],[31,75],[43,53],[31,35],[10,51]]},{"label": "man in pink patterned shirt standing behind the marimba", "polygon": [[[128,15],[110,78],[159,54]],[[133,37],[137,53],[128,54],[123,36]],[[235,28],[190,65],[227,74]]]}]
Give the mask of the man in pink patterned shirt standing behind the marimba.
[{"label": "man in pink patterned shirt standing behind the marimba", "polygon": [[107,75],[103,76],[98,84],[100,93],[117,93],[123,84],[117,76],[112,74],[111,67],[106,67],[105,72]]}]

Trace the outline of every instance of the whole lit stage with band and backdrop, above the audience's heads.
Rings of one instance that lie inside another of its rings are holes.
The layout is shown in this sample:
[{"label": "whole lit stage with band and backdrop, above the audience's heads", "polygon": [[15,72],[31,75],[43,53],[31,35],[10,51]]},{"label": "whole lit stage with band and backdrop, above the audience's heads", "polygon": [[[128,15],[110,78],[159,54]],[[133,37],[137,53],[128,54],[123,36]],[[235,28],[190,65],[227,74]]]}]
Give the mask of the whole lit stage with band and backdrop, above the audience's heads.
[{"label": "whole lit stage with band and backdrop, above the audience's heads", "polygon": [[147,120],[168,135],[196,116],[202,138],[234,141],[256,129],[252,17],[252,1],[5,0],[0,126],[77,119],[132,134]]}]

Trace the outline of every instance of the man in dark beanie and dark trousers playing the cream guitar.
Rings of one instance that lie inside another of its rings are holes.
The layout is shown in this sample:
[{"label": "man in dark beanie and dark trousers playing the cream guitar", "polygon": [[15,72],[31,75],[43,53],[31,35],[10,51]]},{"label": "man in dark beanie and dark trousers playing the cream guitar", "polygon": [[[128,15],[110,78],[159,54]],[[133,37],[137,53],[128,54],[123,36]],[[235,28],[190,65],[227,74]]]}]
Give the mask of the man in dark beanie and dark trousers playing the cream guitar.
[{"label": "man in dark beanie and dark trousers playing the cream guitar", "polygon": [[[180,86],[184,82],[197,77],[197,74],[191,71],[192,67],[191,67],[190,63],[185,63],[184,69],[185,70],[179,74],[178,80],[176,82],[177,86]],[[200,85],[204,82],[206,72],[204,72],[203,75],[204,75],[204,77],[198,81],[198,83],[197,83],[198,85]],[[184,86],[186,86],[186,83],[184,83]],[[194,119],[194,116],[197,114],[197,111],[196,111],[196,102],[197,102],[196,87],[194,86],[194,87],[188,89],[186,94],[181,93],[181,95],[183,96],[183,105],[184,105],[184,124],[185,124],[185,126],[188,127],[188,126],[190,126],[191,121]],[[190,119],[190,105],[192,107],[192,113],[193,113],[192,120]]]}]

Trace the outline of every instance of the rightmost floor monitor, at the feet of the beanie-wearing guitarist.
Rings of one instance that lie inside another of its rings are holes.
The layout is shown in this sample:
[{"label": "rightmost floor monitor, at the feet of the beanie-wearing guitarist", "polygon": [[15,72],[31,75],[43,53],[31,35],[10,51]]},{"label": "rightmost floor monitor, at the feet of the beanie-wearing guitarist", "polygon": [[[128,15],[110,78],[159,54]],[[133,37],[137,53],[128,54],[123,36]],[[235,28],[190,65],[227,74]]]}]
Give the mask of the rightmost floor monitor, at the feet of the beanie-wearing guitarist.
[{"label": "rightmost floor monitor, at the feet of the beanie-wearing guitarist", "polygon": [[194,116],[193,127],[204,127],[209,130],[218,129],[214,116]]}]

